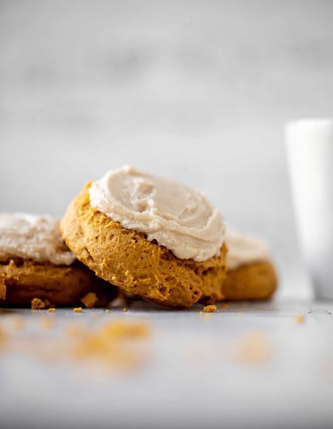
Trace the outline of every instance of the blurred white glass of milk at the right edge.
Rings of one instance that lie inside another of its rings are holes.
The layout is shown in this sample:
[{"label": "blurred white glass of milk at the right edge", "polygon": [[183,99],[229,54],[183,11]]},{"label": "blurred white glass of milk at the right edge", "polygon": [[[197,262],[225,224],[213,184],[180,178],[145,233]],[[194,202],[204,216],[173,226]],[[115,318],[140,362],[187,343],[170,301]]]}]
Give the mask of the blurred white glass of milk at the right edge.
[{"label": "blurred white glass of milk at the right edge", "polygon": [[315,296],[333,299],[333,120],[286,127],[296,222]]}]

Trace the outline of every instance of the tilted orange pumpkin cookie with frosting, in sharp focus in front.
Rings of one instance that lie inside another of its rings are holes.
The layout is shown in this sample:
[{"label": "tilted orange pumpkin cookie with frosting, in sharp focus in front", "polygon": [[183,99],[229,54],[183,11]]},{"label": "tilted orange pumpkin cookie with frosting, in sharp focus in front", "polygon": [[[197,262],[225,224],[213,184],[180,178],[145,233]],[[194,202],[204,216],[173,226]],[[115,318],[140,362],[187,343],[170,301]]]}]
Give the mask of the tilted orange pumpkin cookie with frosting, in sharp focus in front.
[{"label": "tilted orange pumpkin cookie with frosting, in sharp focus in front", "polygon": [[225,225],[206,196],[122,167],[90,182],[61,220],[65,243],[97,276],[170,307],[222,298]]}]

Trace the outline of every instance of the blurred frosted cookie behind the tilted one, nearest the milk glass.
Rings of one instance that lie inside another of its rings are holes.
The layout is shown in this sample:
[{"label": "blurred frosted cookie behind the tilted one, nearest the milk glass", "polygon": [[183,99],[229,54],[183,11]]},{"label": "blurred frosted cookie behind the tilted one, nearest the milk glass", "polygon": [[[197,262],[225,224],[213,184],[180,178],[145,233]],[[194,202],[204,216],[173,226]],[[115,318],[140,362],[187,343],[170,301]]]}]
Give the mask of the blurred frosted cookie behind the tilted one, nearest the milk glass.
[{"label": "blurred frosted cookie behind the tilted one, nearest the milk glass", "polygon": [[227,227],[226,300],[265,300],[277,288],[277,276],[268,245],[259,238]]}]

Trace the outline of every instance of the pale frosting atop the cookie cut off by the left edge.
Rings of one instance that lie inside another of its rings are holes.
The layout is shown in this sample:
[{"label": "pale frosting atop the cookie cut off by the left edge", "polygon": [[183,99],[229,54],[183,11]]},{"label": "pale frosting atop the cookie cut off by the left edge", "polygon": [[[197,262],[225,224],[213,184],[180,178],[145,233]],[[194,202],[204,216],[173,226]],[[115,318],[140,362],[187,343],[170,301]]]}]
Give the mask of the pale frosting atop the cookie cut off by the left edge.
[{"label": "pale frosting atop the cookie cut off by the left edge", "polygon": [[65,246],[58,220],[51,216],[0,213],[0,258],[70,265],[75,256]]}]

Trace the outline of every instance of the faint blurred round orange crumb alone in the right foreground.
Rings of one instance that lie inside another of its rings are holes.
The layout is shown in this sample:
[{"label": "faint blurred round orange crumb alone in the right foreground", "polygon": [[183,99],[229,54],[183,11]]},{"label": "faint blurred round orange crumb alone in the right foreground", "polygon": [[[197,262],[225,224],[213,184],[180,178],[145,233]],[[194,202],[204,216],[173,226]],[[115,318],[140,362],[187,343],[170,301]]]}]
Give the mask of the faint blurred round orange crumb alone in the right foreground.
[{"label": "faint blurred round orange crumb alone in the right foreground", "polygon": [[246,333],[237,344],[235,357],[242,364],[263,365],[272,355],[272,346],[264,332]]}]

